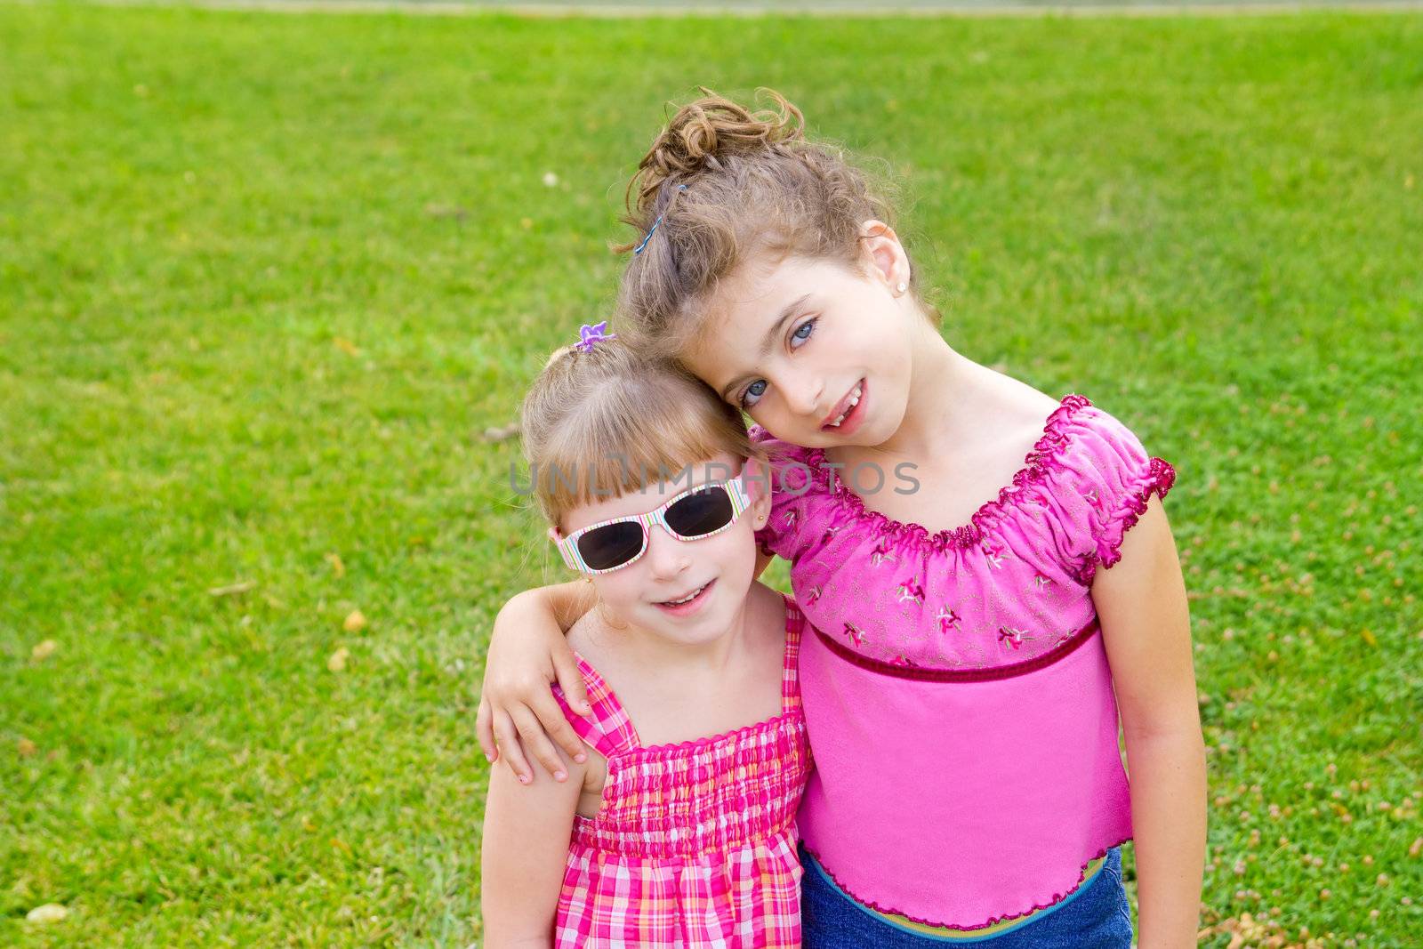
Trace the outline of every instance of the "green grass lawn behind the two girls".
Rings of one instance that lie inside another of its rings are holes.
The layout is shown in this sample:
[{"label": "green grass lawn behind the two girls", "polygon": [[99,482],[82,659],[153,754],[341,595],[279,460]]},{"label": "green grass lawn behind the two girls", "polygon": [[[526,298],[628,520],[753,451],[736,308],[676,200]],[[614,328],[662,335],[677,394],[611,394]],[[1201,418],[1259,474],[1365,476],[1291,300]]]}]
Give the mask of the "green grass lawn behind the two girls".
[{"label": "green grass lawn behind the two girls", "polygon": [[0,6],[0,945],[478,940],[481,656],[561,578],[482,433],[696,83],[1177,464],[1204,945],[1417,945],[1423,17],[73,6]]}]

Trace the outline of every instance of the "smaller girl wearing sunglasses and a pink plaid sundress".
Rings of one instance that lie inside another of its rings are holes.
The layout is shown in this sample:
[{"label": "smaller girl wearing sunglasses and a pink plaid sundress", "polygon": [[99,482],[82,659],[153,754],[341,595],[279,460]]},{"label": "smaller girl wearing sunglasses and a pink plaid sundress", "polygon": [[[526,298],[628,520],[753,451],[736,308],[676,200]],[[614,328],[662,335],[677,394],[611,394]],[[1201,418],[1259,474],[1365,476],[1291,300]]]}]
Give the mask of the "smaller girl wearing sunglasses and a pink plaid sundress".
[{"label": "smaller girl wearing sunglasses and a pink plaid sundress", "polygon": [[605,326],[522,410],[549,538],[596,592],[566,640],[592,714],[555,686],[588,751],[556,781],[490,775],[484,945],[795,946],[803,619],[753,578],[766,452],[739,411]]}]

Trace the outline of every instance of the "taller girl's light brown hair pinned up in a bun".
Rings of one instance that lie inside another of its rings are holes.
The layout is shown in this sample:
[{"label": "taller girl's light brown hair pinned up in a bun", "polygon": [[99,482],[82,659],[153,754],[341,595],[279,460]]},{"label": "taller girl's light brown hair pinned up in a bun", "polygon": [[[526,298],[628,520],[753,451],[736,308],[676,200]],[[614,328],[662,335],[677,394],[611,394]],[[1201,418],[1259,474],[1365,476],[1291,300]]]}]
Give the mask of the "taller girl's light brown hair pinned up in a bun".
[{"label": "taller girl's light brown hair pinned up in a bun", "polygon": [[[751,253],[862,272],[861,226],[892,223],[889,202],[841,149],[807,141],[801,111],[758,91],[774,108],[753,112],[702,87],[703,98],[677,110],[628,184],[623,221],[639,238],[616,250],[642,250],[623,273],[620,312],[636,343],[662,356],[696,340],[717,283]],[[939,322],[938,310],[921,307]]]}]

